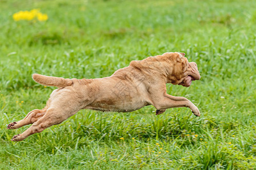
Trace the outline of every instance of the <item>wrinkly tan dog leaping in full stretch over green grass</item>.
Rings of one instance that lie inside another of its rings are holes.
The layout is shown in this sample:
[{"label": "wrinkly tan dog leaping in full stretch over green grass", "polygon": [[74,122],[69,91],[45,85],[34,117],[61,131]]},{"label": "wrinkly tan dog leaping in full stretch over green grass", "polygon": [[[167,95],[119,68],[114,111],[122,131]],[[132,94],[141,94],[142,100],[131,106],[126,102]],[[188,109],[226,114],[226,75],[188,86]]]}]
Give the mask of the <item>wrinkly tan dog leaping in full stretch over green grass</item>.
[{"label": "wrinkly tan dog leaping in full stretch over green grass", "polygon": [[22,141],[49,126],[60,124],[80,109],[131,112],[146,105],[156,108],[156,115],[168,108],[188,107],[200,116],[199,109],[185,97],[166,93],[166,83],[191,85],[199,80],[195,62],[188,62],[185,53],[164,53],[142,61],[131,61],[128,67],[115,71],[112,76],[98,79],[64,79],[33,74],[33,79],[44,86],[56,86],[44,109],[35,109],[23,120],[11,122],[7,129],[32,124],[11,141]]}]

